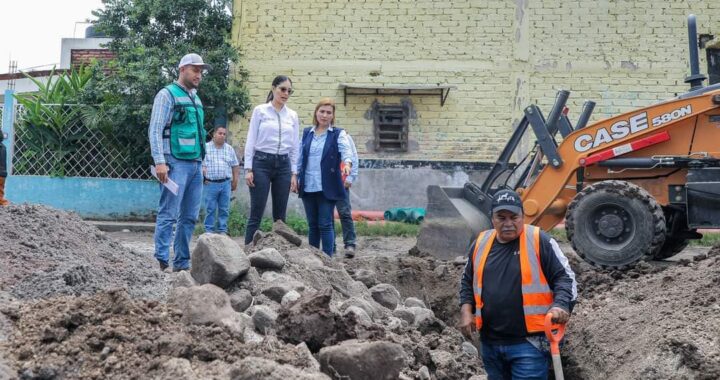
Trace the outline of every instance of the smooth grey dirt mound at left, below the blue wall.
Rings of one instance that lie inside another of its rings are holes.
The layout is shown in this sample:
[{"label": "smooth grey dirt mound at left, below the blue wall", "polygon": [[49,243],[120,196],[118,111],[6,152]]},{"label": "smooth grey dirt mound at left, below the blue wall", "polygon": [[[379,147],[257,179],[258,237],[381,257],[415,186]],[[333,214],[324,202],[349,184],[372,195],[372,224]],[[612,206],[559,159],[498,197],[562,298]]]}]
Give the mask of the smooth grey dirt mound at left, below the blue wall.
[{"label": "smooth grey dirt mound at left, below the blue wall", "polygon": [[124,287],[161,298],[152,257],[123,248],[77,214],[38,205],[0,208],[0,290],[20,299],[87,295]]}]

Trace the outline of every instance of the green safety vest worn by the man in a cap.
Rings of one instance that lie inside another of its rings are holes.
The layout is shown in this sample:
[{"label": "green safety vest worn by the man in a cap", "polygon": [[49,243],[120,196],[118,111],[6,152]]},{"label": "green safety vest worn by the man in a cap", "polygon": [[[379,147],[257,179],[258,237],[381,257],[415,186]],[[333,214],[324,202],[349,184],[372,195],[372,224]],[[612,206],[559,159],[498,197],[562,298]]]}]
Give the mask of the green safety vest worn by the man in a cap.
[{"label": "green safety vest worn by the man in a cap", "polygon": [[177,83],[165,88],[175,102],[171,122],[163,130],[163,137],[170,139],[170,154],[179,160],[205,158],[205,112],[200,99]]}]

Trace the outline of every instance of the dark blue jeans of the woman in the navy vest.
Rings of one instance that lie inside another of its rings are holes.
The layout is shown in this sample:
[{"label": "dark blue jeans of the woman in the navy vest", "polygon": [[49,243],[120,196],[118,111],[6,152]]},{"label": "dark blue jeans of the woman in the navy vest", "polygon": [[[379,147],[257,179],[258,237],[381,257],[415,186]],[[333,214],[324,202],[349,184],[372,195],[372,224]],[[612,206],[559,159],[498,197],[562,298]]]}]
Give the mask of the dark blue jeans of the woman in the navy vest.
[{"label": "dark blue jeans of the woman in the navy vest", "polygon": [[332,256],[335,252],[335,201],[325,198],[322,191],[305,193],[302,201],[308,220],[308,242],[315,248],[320,248],[322,242],[323,252]]}]

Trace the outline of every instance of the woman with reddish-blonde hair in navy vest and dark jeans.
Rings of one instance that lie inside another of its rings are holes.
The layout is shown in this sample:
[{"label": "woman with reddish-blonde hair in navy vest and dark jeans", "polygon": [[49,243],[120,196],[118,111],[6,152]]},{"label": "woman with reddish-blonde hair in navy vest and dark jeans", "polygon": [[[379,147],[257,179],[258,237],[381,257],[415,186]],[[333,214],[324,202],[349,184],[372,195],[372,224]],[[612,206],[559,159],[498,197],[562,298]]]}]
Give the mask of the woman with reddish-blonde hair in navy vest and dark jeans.
[{"label": "woman with reddish-blonde hair in navy vest and dark jeans", "polygon": [[[303,130],[298,158],[298,193],[308,220],[308,241],[328,256],[335,249],[335,202],[345,199],[342,176],[350,174],[352,151],[347,134],[335,124],[335,102],[315,106],[314,127]],[[344,165],[341,166],[341,163]],[[342,169],[341,169],[342,168]]]}]

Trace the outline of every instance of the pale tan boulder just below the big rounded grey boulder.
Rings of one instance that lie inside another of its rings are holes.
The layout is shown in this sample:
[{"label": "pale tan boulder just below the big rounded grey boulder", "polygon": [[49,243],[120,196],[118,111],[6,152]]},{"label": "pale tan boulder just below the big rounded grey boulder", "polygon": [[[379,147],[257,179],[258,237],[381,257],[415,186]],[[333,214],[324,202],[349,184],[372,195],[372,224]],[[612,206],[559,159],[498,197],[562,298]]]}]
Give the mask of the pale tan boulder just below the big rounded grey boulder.
[{"label": "pale tan boulder just below the big rounded grey boulder", "polygon": [[225,326],[237,334],[243,334],[248,327],[247,321],[230,306],[227,293],[212,284],[175,288],[169,302],[182,311],[181,320],[187,324]]}]

